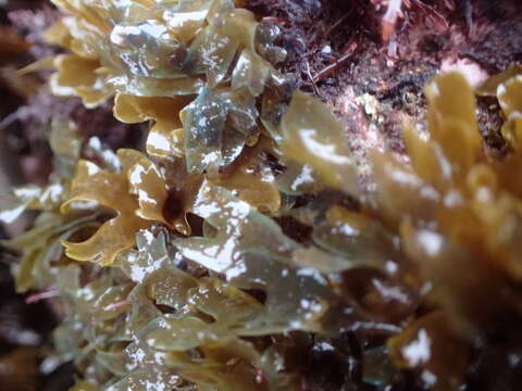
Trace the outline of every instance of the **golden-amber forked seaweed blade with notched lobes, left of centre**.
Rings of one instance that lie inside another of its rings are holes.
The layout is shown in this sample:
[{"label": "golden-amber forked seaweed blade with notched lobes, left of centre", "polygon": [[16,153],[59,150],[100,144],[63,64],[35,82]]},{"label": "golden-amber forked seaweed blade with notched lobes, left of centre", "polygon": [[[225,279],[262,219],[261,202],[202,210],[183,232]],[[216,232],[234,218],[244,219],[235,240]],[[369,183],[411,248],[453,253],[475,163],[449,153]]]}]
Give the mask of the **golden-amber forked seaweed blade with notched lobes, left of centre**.
[{"label": "golden-amber forked seaweed blade with notched lobes, left of centre", "polygon": [[72,258],[111,264],[120,252],[135,244],[138,230],[149,228],[154,220],[164,222],[166,189],[157,168],[137,151],[120,150],[119,159],[123,173],[109,173],[87,161],[78,163],[62,213],[70,213],[78,202],[94,202],[115,211],[116,216],[88,240],[64,242]]}]

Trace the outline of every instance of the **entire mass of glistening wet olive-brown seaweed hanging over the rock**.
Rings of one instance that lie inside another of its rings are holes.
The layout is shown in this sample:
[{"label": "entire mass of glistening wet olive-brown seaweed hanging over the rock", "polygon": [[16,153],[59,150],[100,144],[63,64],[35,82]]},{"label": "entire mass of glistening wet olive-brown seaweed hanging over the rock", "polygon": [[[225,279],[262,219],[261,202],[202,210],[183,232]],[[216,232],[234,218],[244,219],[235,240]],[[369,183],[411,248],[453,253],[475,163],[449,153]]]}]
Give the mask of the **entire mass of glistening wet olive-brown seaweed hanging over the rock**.
[{"label": "entire mass of glistening wet olive-brown seaweed hanging over the rock", "polygon": [[374,151],[364,191],[343,127],[271,65],[277,31],[250,12],[55,2],[49,39],[71,53],[53,92],[152,122],[147,154],[54,124],[54,181],[2,215],[42,210],[7,244],[20,291],[60,292],[76,390],[457,390],[492,356],[517,369],[518,68],[477,91],[506,116],[505,160],[463,77],[442,75],[427,131],[405,129],[411,165]]}]

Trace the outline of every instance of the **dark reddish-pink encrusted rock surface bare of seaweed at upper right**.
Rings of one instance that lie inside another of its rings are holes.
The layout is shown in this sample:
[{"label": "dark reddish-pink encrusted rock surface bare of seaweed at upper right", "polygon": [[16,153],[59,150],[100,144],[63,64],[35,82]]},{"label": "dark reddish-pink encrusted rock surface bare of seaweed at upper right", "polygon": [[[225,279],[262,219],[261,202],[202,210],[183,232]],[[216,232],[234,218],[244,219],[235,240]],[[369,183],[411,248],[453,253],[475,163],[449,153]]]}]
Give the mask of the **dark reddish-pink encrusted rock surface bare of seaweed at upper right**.
[{"label": "dark reddish-pink encrusted rock surface bare of seaweed at upper right", "polygon": [[[363,182],[370,171],[368,151],[376,146],[386,146],[407,162],[402,129],[424,121],[423,86],[432,77],[458,70],[476,86],[522,59],[520,1],[250,3],[283,29],[289,56],[282,71],[325,101],[345,125]],[[346,61],[313,80],[339,59]],[[361,97],[374,99],[373,115],[365,112]],[[490,135],[486,143],[493,140],[496,146],[489,124],[495,113],[483,115],[489,105],[478,103],[481,129]]]}]

